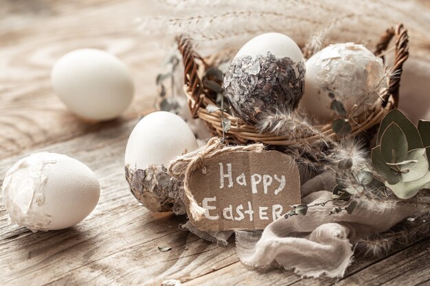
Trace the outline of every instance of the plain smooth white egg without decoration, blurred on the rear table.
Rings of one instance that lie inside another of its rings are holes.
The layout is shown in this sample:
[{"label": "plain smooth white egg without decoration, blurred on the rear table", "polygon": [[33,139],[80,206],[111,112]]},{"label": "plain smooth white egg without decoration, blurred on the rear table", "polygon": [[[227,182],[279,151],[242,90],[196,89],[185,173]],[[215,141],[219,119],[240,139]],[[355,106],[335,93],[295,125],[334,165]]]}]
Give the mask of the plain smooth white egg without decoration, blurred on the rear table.
[{"label": "plain smooth white egg without decoration, blurred on the rear table", "polygon": [[51,81],[69,110],[90,120],[119,117],[134,93],[125,64],[98,49],[78,49],[61,57],[52,68]]}]

